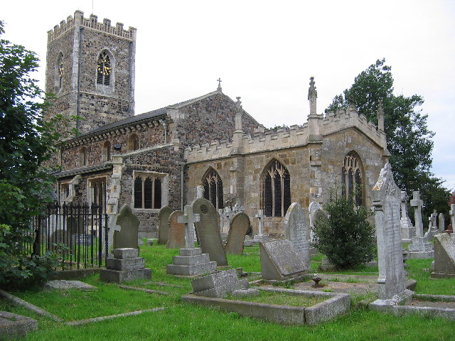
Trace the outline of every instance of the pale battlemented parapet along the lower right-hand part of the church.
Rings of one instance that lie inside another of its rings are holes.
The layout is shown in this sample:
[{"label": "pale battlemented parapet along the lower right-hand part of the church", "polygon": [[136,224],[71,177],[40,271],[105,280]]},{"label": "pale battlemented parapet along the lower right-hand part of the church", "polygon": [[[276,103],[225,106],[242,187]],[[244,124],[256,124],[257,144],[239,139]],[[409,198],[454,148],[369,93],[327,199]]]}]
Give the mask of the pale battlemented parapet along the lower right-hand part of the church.
[{"label": "pale battlemented parapet along the lower right-hand part of the church", "polygon": [[[353,108],[328,112],[325,116],[318,115],[316,120],[319,134],[321,136],[330,135],[337,131],[348,128],[357,128],[363,131],[371,140],[386,148],[385,133],[378,131],[375,124],[368,122],[365,115],[358,114]],[[306,146],[309,144],[310,129],[309,123],[293,125],[289,128],[265,129],[259,126],[252,135],[242,136],[242,151],[240,153],[259,153],[264,151],[274,151],[282,148],[293,148],[296,146]],[[189,146],[185,148],[185,158],[188,163],[213,160],[216,158],[226,158],[237,153],[232,148],[232,142],[221,140],[212,141],[210,144]]]}]

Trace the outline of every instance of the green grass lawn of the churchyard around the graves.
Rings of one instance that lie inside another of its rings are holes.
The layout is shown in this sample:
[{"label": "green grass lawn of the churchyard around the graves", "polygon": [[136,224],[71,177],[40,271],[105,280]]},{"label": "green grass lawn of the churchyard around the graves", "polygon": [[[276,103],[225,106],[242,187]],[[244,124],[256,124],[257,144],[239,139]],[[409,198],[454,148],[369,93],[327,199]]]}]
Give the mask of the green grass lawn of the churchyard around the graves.
[{"label": "green grass lawn of the churchyard around the graves", "polygon": [[[146,266],[153,271],[152,283],[134,281],[127,284],[168,291],[168,296],[126,291],[117,284],[100,282],[97,275],[85,280],[97,286],[97,292],[28,291],[14,294],[65,320],[81,320],[157,307],[165,307],[165,310],[78,327],[55,323],[4,301],[0,301],[0,310],[38,320],[39,329],[28,333],[23,340],[454,340],[454,321],[441,318],[396,318],[355,308],[350,313],[321,325],[284,326],[244,318],[237,313],[223,313],[188,305],[181,302],[181,296],[191,292],[191,280],[166,274],[166,264],[171,264],[172,256],[177,255],[178,250],[166,249],[161,245],[142,245],[140,254],[146,258]],[[259,272],[259,248],[246,247],[242,256],[228,256],[228,263],[234,268],[242,267],[243,271]],[[455,294],[455,279],[433,279],[429,277],[430,271],[424,270],[429,269],[431,260],[412,259],[407,264],[410,277],[417,280],[417,293]],[[366,274],[361,269],[353,272]],[[358,299],[355,298],[355,301]]]}]

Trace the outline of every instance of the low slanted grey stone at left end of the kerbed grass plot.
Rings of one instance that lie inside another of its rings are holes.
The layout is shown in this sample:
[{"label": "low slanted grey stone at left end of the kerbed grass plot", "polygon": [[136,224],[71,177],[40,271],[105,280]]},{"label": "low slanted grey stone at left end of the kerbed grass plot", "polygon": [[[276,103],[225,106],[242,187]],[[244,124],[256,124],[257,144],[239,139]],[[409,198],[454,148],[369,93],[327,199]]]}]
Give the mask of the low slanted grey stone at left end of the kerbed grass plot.
[{"label": "low slanted grey stone at left end of the kerbed grass plot", "polygon": [[232,291],[248,288],[248,281],[247,279],[239,281],[235,269],[230,269],[196,278],[191,281],[191,286],[196,296],[225,298]]}]

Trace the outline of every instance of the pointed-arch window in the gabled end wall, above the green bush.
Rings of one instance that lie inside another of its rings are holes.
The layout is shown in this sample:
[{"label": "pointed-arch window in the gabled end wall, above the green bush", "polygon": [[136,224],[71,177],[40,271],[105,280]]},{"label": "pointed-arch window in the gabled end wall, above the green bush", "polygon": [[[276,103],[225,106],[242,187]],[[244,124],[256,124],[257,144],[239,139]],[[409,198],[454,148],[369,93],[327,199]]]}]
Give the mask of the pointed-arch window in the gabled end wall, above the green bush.
[{"label": "pointed-arch window in the gabled end wall, above the green bush", "polygon": [[358,206],[363,203],[362,179],[360,157],[350,152],[345,156],[343,168],[341,168],[341,194],[346,195],[347,198],[353,197]]}]

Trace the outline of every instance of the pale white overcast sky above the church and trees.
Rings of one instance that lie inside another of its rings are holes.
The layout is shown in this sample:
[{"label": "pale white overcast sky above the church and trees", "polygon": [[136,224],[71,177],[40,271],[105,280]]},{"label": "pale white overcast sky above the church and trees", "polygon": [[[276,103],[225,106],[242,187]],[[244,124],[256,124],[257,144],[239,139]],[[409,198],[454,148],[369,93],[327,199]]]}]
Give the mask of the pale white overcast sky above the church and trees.
[{"label": "pale white overcast sky above the church and trees", "polygon": [[92,6],[98,21],[138,29],[137,114],[212,92],[221,77],[223,92],[241,96],[264,126],[303,124],[309,77],[323,112],[386,58],[395,93],[424,97],[436,133],[432,171],[454,189],[455,1],[3,1],[4,38],[38,53],[42,88],[46,32],[77,9],[90,16]]}]

